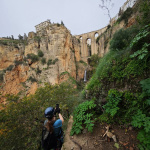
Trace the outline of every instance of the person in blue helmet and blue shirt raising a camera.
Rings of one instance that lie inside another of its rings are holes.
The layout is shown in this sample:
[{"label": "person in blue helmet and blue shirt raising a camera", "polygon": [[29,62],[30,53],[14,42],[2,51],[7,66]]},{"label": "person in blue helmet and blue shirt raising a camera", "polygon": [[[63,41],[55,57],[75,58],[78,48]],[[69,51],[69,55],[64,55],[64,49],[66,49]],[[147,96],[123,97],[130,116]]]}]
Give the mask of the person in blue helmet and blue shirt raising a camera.
[{"label": "person in blue helmet and blue shirt raising a camera", "polygon": [[[62,124],[64,119],[60,113],[59,105],[56,108],[48,107],[45,110],[44,129],[42,131],[42,147],[44,150],[61,150],[63,144]],[[56,120],[58,113],[59,119]]]}]

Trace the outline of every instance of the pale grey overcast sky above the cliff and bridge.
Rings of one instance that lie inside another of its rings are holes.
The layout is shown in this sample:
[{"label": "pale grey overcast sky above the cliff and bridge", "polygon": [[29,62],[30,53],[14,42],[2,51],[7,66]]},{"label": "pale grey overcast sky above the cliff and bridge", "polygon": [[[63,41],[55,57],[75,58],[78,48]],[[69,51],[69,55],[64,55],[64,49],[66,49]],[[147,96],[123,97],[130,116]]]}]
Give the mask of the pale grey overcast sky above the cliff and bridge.
[{"label": "pale grey overcast sky above the cliff and bridge", "polygon": [[[112,0],[114,17],[126,0]],[[50,19],[63,23],[72,35],[91,32],[108,25],[106,11],[99,7],[101,0],[0,0],[0,37],[28,35],[35,25]]]}]

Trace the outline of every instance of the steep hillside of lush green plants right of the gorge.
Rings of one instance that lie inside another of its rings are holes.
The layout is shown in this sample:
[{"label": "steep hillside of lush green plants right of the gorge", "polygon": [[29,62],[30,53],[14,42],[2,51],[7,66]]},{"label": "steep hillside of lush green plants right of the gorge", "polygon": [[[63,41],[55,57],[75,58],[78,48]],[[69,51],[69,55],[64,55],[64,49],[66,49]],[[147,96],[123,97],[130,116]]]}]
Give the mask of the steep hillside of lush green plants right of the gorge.
[{"label": "steep hillside of lush green plants right of the gorge", "polygon": [[[96,72],[82,92],[84,97],[94,99],[99,110],[99,114],[92,113],[92,118],[138,128],[141,150],[150,149],[149,39],[150,24],[117,31],[110,42],[110,51],[99,60]],[[106,103],[102,103],[104,99]],[[74,113],[76,116],[79,113]],[[80,133],[84,127],[83,120],[75,121],[72,134]]]}]

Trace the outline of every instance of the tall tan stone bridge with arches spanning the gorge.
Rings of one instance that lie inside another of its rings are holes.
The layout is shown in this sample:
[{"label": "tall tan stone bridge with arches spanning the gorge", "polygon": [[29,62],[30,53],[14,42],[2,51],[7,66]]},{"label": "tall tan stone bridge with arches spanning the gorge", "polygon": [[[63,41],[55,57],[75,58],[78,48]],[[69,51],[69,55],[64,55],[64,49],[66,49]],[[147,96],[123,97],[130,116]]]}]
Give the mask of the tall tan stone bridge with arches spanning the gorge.
[{"label": "tall tan stone bridge with arches spanning the gorge", "polygon": [[96,31],[75,35],[75,37],[80,40],[82,60],[87,61],[87,58],[93,54],[98,54],[99,56],[104,55],[104,48],[100,48],[104,42],[97,43],[96,39],[104,33],[106,29],[107,27],[104,27]]}]

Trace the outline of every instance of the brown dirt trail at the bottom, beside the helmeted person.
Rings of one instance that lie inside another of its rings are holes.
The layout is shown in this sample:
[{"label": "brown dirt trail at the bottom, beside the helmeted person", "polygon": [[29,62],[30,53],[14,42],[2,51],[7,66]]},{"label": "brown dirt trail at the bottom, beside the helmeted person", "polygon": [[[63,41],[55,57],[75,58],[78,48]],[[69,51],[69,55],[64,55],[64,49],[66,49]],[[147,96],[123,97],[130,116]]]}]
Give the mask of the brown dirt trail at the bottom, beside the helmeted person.
[{"label": "brown dirt trail at the bottom, beside the helmeted person", "polygon": [[70,136],[72,124],[73,117],[71,116],[62,150],[138,150],[137,131],[131,126],[125,128],[112,125],[110,131],[117,140],[114,142],[112,138],[103,137],[106,124],[96,123],[92,133],[83,130],[82,134]]}]

